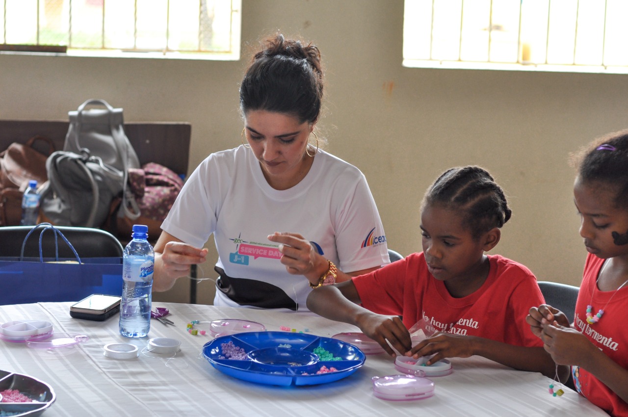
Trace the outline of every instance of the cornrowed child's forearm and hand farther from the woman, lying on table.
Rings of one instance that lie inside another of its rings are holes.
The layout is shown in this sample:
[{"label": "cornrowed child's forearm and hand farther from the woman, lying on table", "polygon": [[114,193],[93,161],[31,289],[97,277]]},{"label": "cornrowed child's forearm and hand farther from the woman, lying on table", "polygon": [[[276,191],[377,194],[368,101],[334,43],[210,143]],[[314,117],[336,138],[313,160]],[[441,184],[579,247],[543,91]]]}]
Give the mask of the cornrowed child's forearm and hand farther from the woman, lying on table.
[{"label": "cornrowed child's forearm and hand farther from the woman, lying on table", "polygon": [[[428,365],[447,357],[479,355],[521,371],[541,372],[552,379],[556,375],[556,365],[543,347],[509,345],[484,337],[437,333],[421,340],[410,352],[415,359],[434,355],[428,360]],[[569,367],[558,367],[558,376],[565,382],[569,376]]]}]

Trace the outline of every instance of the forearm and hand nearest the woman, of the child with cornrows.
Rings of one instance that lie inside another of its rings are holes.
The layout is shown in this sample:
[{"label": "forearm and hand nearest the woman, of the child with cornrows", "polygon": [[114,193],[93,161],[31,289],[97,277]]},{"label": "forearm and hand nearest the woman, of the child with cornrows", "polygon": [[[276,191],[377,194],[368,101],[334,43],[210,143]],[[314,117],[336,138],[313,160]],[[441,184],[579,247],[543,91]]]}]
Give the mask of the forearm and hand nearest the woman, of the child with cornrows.
[{"label": "forearm and hand nearest the woman, of the child with cornrows", "polygon": [[351,280],[317,288],[311,291],[307,300],[310,311],[330,320],[359,327],[389,355],[394,357],[395,353],[388,342],[401,354],[408,352],[411,347],[410,333],[401,319],[373,313],[359,303],[360,296]]}]

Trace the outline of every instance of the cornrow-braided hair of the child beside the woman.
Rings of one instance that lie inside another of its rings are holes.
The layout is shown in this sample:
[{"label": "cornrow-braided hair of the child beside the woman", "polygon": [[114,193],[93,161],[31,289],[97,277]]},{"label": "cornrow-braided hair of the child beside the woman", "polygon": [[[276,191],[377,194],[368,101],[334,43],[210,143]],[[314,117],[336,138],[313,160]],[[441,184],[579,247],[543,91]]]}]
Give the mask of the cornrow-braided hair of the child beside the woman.
[{"label": "cornrow-braided hair of the child beside the woman", "polygon": [[451,168],[431,185],[425,205],[440,204],[462,214],[462,224],[474,238],[511,218],[506,196],[489,172],[479,166]]}]

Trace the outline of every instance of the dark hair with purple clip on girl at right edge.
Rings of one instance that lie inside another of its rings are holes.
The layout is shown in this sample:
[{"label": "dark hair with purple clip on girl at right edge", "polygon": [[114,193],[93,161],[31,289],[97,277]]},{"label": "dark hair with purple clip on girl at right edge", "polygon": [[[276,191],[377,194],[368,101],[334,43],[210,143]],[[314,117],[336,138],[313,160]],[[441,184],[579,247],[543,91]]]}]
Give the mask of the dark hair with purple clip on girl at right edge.
[{"label": "dark hair with purple clip on girl at right edge", "polygon": [[628,210],[628,129],[601,136],[571,154],[571,165],[581,181],[611,188],[615,207]]}]

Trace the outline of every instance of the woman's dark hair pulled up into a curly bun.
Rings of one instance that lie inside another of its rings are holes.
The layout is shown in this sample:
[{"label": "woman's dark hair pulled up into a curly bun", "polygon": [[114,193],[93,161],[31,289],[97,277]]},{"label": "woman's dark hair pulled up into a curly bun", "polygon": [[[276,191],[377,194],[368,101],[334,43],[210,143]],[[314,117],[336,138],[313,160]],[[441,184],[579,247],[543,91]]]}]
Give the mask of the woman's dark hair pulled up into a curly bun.
[{"label": "woman's dark hair pulled up into a curly bun", "polygon": [[317,46],[287,40],[281,33],[263,41],[240,86],[240,110],[264,110],[314,123],[323,99],[323,70]]}]

